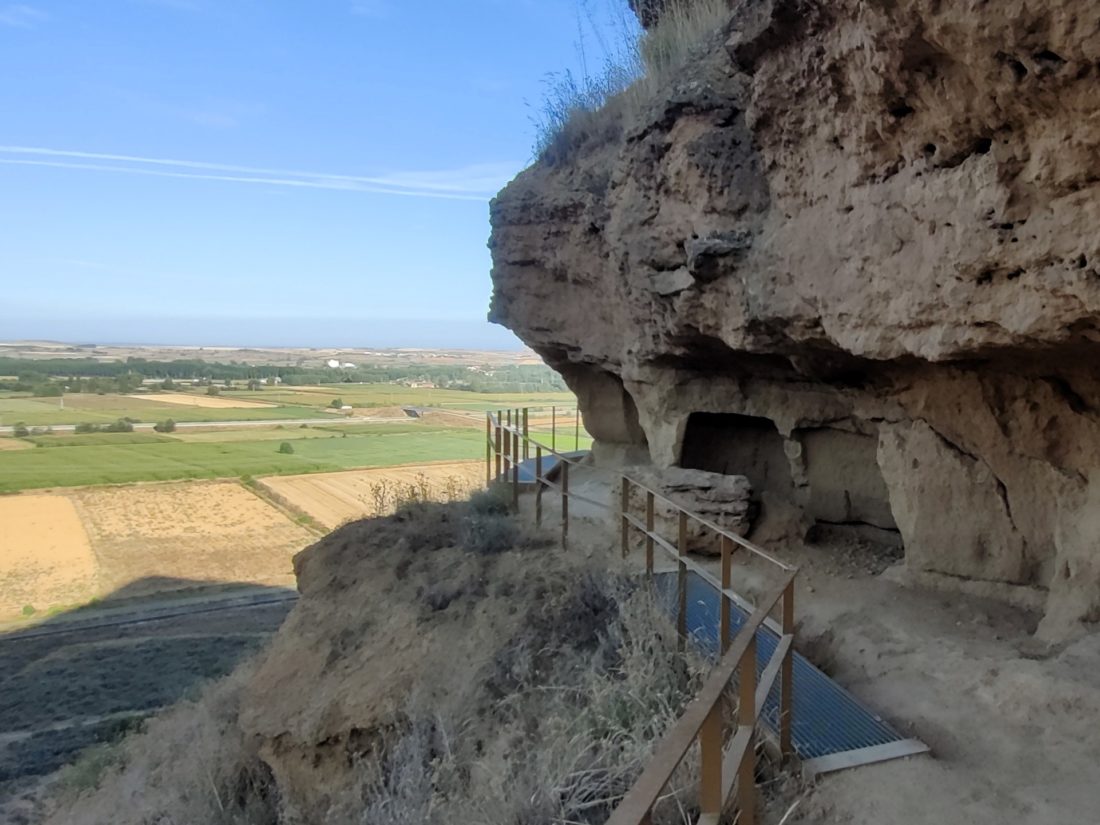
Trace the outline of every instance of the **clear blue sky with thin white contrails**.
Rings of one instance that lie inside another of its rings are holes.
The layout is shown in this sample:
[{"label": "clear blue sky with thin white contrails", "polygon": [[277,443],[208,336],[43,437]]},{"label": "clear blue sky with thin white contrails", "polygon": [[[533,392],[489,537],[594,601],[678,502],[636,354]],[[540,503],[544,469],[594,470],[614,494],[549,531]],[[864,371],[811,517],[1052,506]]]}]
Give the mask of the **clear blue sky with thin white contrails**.
[{"label": "clear blue sky with thin white contrails", "polygon": [[0,0],[0,339],[517,346],[488,198],[578,7]]}]

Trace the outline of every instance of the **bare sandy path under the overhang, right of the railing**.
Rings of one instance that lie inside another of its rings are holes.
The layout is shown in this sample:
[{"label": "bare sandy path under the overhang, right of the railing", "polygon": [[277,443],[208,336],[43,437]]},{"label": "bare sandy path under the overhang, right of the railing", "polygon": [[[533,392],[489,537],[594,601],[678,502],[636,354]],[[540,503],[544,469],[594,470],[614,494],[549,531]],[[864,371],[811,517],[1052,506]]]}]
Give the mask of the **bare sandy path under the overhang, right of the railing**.
[{"label": "bare sandy path under the overhang, right of the railing", "polygon": [[[606,501],[591,474],[575,481]],[[543,499],[550,524],[557,501]],[[579,504],[575,516],[571,541],[617,542],[605,512]],[[1100,631],[1045,648],[1037,615],[912,586],[890,552],[850,537],[768,549],[801,568],[800,650],[932,755],[827,774],[763,822],[798,801],[787,825],[1100,823]],[[735,560],[735,590],[767,587],[766,565]]]}]

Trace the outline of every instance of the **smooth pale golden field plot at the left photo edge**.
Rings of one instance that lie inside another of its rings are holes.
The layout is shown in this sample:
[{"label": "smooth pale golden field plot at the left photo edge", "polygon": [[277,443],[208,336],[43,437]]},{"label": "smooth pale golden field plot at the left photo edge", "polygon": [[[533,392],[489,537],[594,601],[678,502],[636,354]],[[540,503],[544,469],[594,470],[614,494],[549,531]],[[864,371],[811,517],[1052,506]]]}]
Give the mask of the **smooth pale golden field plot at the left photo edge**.
[{"label": "smooth pale golden field plot at the left photo edge", "polygon": [[0,497],[0,619],[31,605],[86,602],[96,559],[73,503],[62,495]]}]

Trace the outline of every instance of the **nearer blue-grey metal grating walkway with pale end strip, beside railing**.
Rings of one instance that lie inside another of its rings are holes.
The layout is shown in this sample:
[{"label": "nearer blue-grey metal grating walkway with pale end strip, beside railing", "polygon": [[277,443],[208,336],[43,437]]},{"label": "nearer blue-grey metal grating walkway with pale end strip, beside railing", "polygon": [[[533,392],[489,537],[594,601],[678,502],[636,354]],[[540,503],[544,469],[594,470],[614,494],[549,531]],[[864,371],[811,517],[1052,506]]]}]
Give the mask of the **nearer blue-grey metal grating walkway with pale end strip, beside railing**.
[{"label": "nearer blue-grey metal grating walkway with pale end strip, beside railing", "polygon": [[[659,597],[676,615],[676,574],[653,576]],[[688,634],[711,659],[718,652],[718,591],[693,572],[688,573]],[[730,630],[736,634],[748,613],[732,605]],[[763,671],[779,644],[779,634],[763,625],[757,631],[757,675]],[[881,716],[865,707],[798,652],[793,656],[793,708],[791,738],[807,773],[868,765],[923,754],[924,743],[909,739]],[[761,718],[778,730],[779,682],[765,702]]]}]

